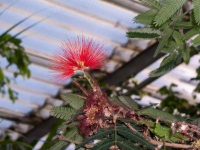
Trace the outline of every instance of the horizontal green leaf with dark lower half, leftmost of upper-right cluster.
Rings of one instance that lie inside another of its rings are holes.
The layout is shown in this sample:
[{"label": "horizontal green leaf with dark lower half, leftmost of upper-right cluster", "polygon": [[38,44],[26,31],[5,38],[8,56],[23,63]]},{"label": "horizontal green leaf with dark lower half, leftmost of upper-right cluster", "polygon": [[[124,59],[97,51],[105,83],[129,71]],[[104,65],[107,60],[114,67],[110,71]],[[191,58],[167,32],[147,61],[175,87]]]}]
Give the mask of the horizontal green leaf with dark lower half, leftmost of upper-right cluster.
[{"label": "horizontal green leaf with dark lower half, leftmost of upper-right cluster", "polygon": [[154,39],[160,36],[160,31],[152,30],[151,28],[142,28],[130,30],[126,34],[129,38]]}]

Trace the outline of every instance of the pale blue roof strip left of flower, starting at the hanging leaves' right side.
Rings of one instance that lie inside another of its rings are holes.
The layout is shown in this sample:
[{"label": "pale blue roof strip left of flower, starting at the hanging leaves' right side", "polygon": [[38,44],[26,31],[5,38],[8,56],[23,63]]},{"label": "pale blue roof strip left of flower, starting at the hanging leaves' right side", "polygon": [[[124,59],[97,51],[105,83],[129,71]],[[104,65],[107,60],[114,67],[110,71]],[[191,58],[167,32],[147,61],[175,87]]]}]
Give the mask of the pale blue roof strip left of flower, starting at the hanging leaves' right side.
[{"label": "pale blue roof strip left of flower, starting at the hanging leaves' right side", "polygon": [[39,80],[35,80],[32,78],[24,79],[21,76],[18,76],[15,80],[13,79],[13,75],[11,73],[5,72],[5,75],[8,76],[11,80],[12,84],[17,84],[19,87],[21,88],[25,88],[34,92],[38,92],[41,94],[47,94],[50,96],[56,96],[58,91],[59,91],[59,87],[53,85],[53,84],[49,84],[49,83],[45,83],[45,82],[41,82]]}]

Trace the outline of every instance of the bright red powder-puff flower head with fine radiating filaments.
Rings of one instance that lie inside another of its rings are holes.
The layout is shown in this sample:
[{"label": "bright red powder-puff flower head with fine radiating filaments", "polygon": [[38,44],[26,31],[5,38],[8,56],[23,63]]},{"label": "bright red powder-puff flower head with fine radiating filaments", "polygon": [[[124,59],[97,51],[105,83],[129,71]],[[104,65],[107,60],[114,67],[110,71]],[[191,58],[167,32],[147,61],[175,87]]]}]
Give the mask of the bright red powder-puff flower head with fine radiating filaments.
[{"label": "bright red powder-puff flower head with fine radiating filaments", "polygon": [[107,57],[102,44],[82,36],[65,42],[52,57],[50,68],[55,71],[56,80],[64,81],[78,71],[101,68]]}]

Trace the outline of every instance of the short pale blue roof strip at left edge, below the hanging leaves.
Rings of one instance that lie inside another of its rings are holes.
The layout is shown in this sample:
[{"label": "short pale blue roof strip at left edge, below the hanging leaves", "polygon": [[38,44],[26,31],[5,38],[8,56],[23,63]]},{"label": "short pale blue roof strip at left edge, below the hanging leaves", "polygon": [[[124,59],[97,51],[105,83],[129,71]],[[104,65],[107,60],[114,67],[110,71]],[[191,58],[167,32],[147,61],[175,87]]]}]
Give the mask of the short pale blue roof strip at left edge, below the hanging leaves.
[{"label": "short pale blue roof strip at left edge, below the hanging leaves", "polygon": [[23,105],[22,103],[18,103],[17,101],[13,103],[11,100],[3,100],[2,98],[0,98],[0,101],[0,107],[10,109],[14,112],[28,115],[33,111],[32,107],[28,105]]}]

